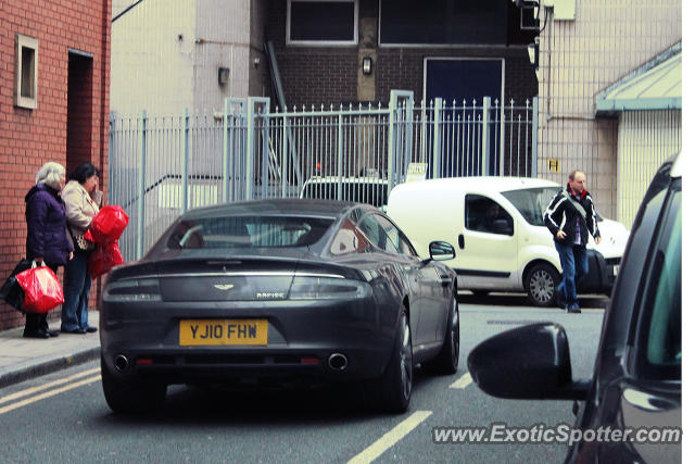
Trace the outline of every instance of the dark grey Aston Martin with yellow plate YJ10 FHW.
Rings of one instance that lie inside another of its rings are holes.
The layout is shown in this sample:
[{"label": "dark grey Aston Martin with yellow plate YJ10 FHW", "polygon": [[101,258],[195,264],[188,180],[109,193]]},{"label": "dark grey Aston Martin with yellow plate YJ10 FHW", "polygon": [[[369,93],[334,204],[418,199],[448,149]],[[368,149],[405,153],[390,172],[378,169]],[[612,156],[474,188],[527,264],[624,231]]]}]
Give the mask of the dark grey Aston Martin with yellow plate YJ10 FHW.
[{"label": "dark grey Aston Martin with yellow plate YJ10 FHW", "polygon": [[413,366],[458,365],[446,242],[420,259],[379,210],[265,200],[190,211],[139,262],[114,268],[100,315],[115,412],[162,404],[167,385],[247,380],[368,386],[408,407]]}]

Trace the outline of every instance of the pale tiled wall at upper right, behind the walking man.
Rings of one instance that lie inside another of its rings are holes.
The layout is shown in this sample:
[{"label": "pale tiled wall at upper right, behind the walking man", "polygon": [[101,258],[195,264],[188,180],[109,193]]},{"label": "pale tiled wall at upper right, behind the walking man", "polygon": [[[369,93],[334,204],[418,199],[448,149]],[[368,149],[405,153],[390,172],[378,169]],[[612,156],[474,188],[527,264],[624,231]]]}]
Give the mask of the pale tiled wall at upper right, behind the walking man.
[{"label": "pale tiled wall at upper right, behind the walking man", "polygon": [[594,118],[595,95],[680,40],[681,1],[574,3],[574,20],[551,16],[540,36],[538,173],[565,184],[570,171],[586,172],[598,210],[615,218],[618,121]]}]

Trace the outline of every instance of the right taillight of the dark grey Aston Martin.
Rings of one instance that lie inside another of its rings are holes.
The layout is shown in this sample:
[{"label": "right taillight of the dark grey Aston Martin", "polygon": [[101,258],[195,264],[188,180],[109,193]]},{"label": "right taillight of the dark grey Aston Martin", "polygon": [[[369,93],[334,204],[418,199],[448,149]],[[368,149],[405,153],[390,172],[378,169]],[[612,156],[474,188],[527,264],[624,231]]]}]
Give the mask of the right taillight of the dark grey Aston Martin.
[{"label": "right taillight of the dark grey Aston Martin", "polygon": [[371,291],[369,284],[336,277],[294,277],[290,300],[340,300],[364,298]]}]

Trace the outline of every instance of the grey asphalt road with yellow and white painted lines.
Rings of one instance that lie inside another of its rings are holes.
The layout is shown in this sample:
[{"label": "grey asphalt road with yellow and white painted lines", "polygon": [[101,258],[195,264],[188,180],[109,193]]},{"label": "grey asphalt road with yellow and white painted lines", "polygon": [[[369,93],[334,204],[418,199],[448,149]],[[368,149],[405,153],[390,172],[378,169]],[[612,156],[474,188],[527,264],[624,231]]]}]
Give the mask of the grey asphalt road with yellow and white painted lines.
[{"label": "grey asphalt road with yellow and white painted lines", "polygon": [[369,412],[339,390],[176,386],[162,412],[122,417],[103,399],[98,363],[83,364],[0,390],[0,462],[559,462],[564,444],[435,444],[432,427],[571,425],[570,401],[486,396],[467,381],[466,358],[491,335],[554,321],[567,330],[574,377],[587,377],[605,303],[583,300],[582,314],[566,314],[525,306],[523,297],[462,297],[459,372],[430,377],[418,369],[410,410],[395,416]]}]

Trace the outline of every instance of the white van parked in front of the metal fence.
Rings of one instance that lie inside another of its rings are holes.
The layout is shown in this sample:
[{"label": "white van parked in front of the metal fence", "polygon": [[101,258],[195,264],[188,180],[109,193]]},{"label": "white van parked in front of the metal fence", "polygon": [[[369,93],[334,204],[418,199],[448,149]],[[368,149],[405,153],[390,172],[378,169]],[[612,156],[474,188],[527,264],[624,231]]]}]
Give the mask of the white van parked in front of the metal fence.
[{"label": "white van parked in front of the metal fence", "polygon": [[[526,291],[536,305],[555,304],[561,267],[543,212],[563,187],[522,177],[456,177],[406,183],[389,196],[388,214],[418,254],[428,243],[457,244],[447,264],[458,274],[458,289]],[[589,276],[582,293],[609,293],[629,231],[599,218],[602,242],[590,239]]]}]

